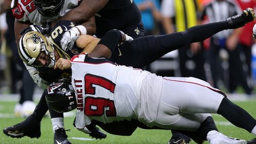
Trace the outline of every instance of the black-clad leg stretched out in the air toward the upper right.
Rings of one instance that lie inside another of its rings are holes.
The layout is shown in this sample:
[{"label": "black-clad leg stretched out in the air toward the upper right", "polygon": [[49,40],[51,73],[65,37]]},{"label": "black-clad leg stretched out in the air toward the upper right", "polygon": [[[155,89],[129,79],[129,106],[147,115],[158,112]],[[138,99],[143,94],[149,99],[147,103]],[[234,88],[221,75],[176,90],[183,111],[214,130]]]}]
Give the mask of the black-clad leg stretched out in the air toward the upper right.
[{"label": "black-clad leg stretched out in the air toward the upper right", "polygon": [[143,67],[168,52],[180,49],[192,42],[203,41],[206,38],[227,29],[235,29],[254,19],[254,12],[246,9],[242,13],[225,21],[194,26],[184,32],[160,36],[144,36],[133,41],[124,42],[120,50],[119,64]]}]

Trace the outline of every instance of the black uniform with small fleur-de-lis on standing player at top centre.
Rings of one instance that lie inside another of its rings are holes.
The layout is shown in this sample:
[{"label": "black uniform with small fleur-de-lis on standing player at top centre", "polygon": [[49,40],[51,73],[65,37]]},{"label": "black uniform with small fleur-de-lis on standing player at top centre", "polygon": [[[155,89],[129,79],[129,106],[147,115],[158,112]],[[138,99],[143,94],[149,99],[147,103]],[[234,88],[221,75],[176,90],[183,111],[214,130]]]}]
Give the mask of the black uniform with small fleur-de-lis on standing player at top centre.
[{"label": "black uniform with small fleur-de-lis on standing player at top centre", "polygon": [[112,29],[136,38],[144,35],[141,14],[133,0],[110,0],[97,14],[96,36],[102,37]]}]

